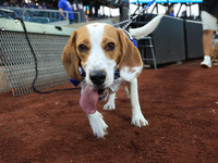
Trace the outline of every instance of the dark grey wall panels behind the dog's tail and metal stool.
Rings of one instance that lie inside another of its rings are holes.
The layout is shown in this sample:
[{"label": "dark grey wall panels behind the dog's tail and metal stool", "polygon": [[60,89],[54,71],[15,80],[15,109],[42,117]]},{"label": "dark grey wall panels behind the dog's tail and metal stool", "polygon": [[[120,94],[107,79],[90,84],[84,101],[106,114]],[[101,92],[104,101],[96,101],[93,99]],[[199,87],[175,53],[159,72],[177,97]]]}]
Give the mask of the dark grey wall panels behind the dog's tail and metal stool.
[{"label": "dark grey wall panels behind the dog's tail and metal stool", "polygon": [[[154,18],[156,14],[141,15],[131,24],[132,28],[141,27]],[[177,63],[180,61],[203,57],[202,23],[165,15],[154,33],[150,34],[157,64]],[[148,43],[138,40],[138,43]],[[149,48],[145,50],[146,58],[152,58]],[[145,61],[145,64],[153,64]]]}]

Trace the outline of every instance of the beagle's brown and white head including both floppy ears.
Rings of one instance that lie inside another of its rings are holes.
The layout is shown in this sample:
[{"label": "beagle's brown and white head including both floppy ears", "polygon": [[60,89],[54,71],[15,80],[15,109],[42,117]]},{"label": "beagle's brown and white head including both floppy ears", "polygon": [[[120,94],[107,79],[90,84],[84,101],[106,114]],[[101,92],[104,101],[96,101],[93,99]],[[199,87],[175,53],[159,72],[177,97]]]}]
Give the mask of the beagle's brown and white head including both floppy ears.
[{"label": "beagle's brown and white head including both floppy ears", "polygon": [[128,36],[121,29],[100,23],[72,33],[62,62],[70,77],[76,80],[83,80],[78,70],[82,67],[86,83],[96,89],[110,87],[118,67],[126,82],[142,71],[141,54]]}]

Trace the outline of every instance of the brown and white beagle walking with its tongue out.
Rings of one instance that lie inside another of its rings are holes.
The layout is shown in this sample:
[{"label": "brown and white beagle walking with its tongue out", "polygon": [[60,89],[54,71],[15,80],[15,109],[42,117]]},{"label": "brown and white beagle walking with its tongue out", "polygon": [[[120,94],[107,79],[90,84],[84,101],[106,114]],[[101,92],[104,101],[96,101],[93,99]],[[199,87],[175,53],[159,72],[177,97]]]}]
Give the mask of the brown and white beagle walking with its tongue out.
[{"label": "brown and white beagle walking with its tongue out", "polygon": [[[156,16],[140,29],[130,29],[135,38],[152,33],[161,16]],[[80,104],[87,114],[93,133],[104,138],[108,125],[97,111],[98,101],[106,100],[105,110],[114,110],[116,91],[125,83],[125,95],[131,99],[132,121],[137,127],[148,125],[142,114],[137,76],[143,70],[141,54],[134,43],[123,33],[108,24],[88,24],[73,32],[62,53],[62,63],[66,73],[81,82]],[[120,77],[114,79],[119,68]],[[85,75],[82,75],[85,74]]]}]

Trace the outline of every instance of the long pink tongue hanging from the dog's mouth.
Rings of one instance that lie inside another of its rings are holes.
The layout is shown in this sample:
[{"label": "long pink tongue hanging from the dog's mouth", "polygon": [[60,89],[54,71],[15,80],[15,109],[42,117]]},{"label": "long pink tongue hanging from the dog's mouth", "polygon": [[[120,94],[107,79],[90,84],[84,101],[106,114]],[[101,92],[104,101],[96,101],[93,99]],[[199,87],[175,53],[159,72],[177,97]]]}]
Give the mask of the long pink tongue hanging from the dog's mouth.
[{"label": "long pink tongue hanging from the dog's mouth", "polygon": [[98,102],[98,92],[90,86],[86,85],[83,95],[81,96],[80,104],[86,114],[94,114]]}]

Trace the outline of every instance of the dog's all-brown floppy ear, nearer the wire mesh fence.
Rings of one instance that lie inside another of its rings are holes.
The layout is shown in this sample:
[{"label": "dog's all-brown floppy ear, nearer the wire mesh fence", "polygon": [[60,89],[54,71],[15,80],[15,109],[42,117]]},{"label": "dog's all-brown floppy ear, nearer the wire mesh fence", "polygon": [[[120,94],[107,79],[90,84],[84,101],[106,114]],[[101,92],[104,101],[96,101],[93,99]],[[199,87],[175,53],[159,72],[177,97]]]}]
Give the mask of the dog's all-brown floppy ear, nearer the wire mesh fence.
[{"label": "dog's all-brown floppy ear, nearer the wire mesh fence", "polygon": [[81,82],[83,78],[78,71],[80,59],[75,49],[76,48],[75,40],[76,40],[76,30],[71,34],[71,37],[63,49],[62,63],[69,76],[75,80]]}]

